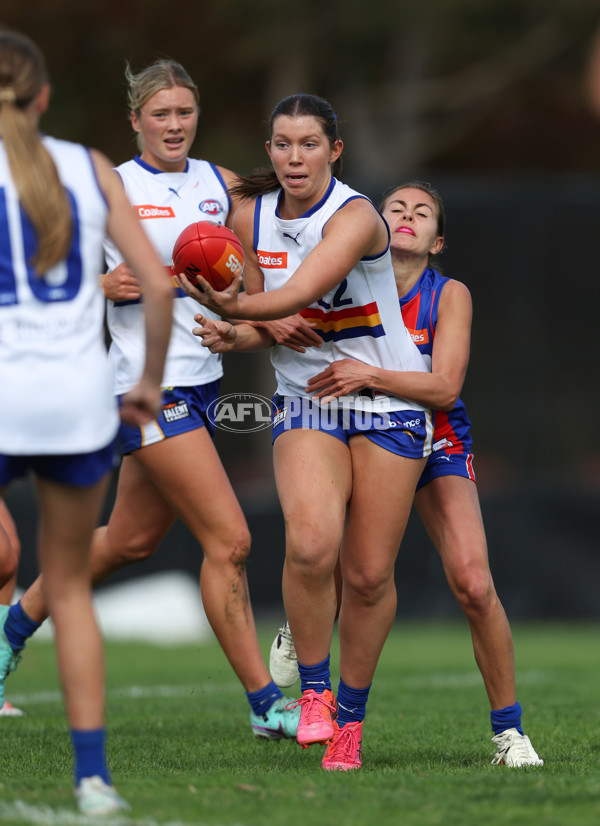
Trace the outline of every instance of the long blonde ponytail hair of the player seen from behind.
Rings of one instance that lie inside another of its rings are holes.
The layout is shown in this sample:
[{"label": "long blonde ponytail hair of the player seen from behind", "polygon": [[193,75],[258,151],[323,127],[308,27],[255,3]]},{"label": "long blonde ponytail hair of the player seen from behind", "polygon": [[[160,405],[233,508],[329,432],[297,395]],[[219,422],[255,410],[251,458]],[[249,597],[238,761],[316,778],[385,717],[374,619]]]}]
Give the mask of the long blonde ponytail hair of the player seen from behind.
[{"label": "long blonde ponytail hair of the player seen from behind", "polygon": [[37,236],[31,263],[38,274],[66,258],[73,218],[52,156],[27,107],[48,82],[37,46],[24,35],[0,31],[0,134],[19,200]]}]

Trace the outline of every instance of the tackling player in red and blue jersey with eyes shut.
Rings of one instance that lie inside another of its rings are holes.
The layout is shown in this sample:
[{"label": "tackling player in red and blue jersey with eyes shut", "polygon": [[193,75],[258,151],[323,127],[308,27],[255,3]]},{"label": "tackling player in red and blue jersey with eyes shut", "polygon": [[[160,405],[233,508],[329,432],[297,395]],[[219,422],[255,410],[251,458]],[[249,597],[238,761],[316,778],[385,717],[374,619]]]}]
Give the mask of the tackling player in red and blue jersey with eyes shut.
[{"label": "tackling player in red and blue jersey with eyes shut", "polygon": [[[318,397],[355,387],[410,392],[429,401],[434,414],[433,452],[417,484],[415,507],[437,548],[450,587],[464,611],[475,659],[490,701],[497,753],[493,763],[541,766],[543,761],[521,728],[516,701],[513,642],[489,568],[485,531],[475,485],[471,423],[459,398],[469,359],[471,296],[466,286],[441,276],[432,259],[442,251],[445,210],[439,193],[421,181],[392,189],[381,211],[391,230],[391,251],[404,322],[417,347],[431,359],[428,387],[407,375],[375,374],[367,365],[336,361],[308,386]],[[281,685],[297,679],[293,639],[287,623],[271,649],[271,673]],[[278,680],[277,674],[282,675]]]}]

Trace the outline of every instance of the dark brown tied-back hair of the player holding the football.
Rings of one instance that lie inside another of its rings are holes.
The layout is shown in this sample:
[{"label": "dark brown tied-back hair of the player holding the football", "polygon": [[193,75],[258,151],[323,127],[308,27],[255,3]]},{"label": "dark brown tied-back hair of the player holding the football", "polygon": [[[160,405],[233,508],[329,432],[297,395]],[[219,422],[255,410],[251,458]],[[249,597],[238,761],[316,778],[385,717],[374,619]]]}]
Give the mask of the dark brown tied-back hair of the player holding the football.
[{"label": "dark brown tied-back hair of the player holding the football", "polygon": [[[333,147],[339,140],[337,115],[331,105],[317,95],[289,95],[283,98],[275,106],[269,118],[269,137],[273,134],[273,123],[279,115],[288,115],[296,118],[300,115],[312,115],[321,122],[323,131],[327,135],[329,145]],[[341,156],[333,163],[332,173],[339,178],[342,173]],[[267,192],[275,192],[281,184],[277,179],[273,169],[257,169],[250,175],[240,176],[236,183],[230,187],[229,192],[233,197],[256,198]]]}]

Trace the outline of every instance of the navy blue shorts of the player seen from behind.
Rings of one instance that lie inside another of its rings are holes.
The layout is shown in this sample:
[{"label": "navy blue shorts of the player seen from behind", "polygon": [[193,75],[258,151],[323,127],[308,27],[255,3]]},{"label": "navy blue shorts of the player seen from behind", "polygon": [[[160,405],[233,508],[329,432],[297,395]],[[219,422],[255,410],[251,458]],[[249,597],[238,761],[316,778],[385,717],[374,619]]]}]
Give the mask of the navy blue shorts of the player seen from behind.
[{"label": "navy blue shorts of the player seen from behind", "polygon": [[118,464],[114,440],[92,453],[68,453],[53,456],[8,456],[0,453],[0,487],[32,471],[36,476],[87,488],[95,485]]}]

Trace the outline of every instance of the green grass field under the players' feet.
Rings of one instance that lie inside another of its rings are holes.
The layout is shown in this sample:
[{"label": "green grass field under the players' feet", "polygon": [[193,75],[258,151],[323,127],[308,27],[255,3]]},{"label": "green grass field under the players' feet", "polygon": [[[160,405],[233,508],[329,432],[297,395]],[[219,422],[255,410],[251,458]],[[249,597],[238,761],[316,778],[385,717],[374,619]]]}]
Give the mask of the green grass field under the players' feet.
[{"label": "green grass field under the players' feet", "polygon": [[[261,626],[265,655],[274,631]],[[395,626],[371,690],[363,769],[350,773],[323,772],[322,747],[256,740],[215,642],[108,643],[109,758],[132,809],[102,822],[597,826],[600,627],[517,625],[513,634],[540,769],[490,765],[487,698],[464,623]],[[335,649],[332,664],[335,687]],[[75,811],[52,644],[32,641],[7,686],[27,716],[0,719],[0,824],[97,823]]]}]

